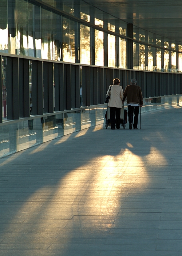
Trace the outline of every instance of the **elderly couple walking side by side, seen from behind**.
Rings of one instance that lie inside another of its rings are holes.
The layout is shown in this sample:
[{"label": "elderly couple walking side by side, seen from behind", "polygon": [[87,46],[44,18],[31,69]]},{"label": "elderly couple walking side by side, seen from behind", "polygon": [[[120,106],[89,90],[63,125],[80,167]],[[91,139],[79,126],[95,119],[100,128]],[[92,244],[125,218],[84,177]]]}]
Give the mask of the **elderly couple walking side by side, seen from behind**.
[{"label": "elderly couple walking side by side, seen from behind", "polygon": [[[142,91],[139,86],[137,86],[137,80],[131,79],[131,84],[126,87],[123,93],[122,87],[119,85],[120,80],[115,78],[113,80],[113,85],[109,86],[107,91],[107,96],[111,96],[108,102],[108,107],[110,108],[110,121],[111,121],[111,129],[120,128],[120,110],[122,108],[122,102],[127,98],[127,106],[128,106],[128,121],[129,121],[129,129],[138,129],[138,114],[139,107],[143,105],[143,97]],[[133,114],[134,123],[133,123]]]}]

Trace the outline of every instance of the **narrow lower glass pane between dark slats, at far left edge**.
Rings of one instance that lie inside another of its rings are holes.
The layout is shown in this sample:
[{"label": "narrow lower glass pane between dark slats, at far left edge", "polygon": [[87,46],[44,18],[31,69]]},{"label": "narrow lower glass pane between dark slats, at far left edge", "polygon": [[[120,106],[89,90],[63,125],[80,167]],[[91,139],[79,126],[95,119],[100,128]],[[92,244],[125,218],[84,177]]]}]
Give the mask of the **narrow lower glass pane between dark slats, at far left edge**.
[{"label": "narrow lower glass pane between dark slats, at far left edge", "polygon": [[6,57],[2,57],[3,120],[7,119]]}]

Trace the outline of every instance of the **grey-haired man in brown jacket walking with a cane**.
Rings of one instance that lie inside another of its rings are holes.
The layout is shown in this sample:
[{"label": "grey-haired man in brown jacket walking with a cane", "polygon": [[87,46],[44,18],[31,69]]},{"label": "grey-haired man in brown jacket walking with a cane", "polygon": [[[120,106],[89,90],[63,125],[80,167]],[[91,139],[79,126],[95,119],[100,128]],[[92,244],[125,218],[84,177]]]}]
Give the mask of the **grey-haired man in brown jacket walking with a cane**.
[{"label": "grey-haired man in brown jacket walking with a cane", "polygon": [[136,79],[131,79],[131,84],[126,86],[123,96],[123,102],[127,97],[129,129],[132,129],[133,113],[135,114],[133,129],[138,129],[138,113],[139,107],[143,106],[143,97],[141,88],[137,86]]}]

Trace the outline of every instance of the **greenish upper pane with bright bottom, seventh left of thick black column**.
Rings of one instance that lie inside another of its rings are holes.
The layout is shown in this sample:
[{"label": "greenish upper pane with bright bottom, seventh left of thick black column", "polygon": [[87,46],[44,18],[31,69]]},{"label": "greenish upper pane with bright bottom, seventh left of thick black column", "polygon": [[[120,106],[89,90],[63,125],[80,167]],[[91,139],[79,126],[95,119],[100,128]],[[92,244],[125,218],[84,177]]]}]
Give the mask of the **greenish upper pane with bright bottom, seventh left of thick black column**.
[{"label": "greenish upper pane with bright bottom, seventh left of thick black column", "polygon": [[41,8],[42,59],[52,60],[52,12]]}]

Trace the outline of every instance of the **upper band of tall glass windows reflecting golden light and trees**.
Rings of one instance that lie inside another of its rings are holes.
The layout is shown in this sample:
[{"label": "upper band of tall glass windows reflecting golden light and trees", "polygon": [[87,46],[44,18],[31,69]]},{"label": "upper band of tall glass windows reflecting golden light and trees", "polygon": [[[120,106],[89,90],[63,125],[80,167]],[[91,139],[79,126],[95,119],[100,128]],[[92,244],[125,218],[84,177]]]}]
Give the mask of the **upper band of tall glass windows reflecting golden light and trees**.
[{"label": "upper band of tall glass windows reflecting golden light and trees", "polygon": [[[0,52],[127,68],[126,22],[82,0],[43,2],[50,5],[50,10],[41,3],[34,5],[29,0],[3,1]],[[57,8],[60,14],[52,7]],[[61,11],[72,16],[63,16]],[[116,34],[111,34],[111,31]],[[181,42],[133,26],[133,68],[182,72],[181,45]],[[107,56],[107,60],[104,60],[104,56]]]}]

